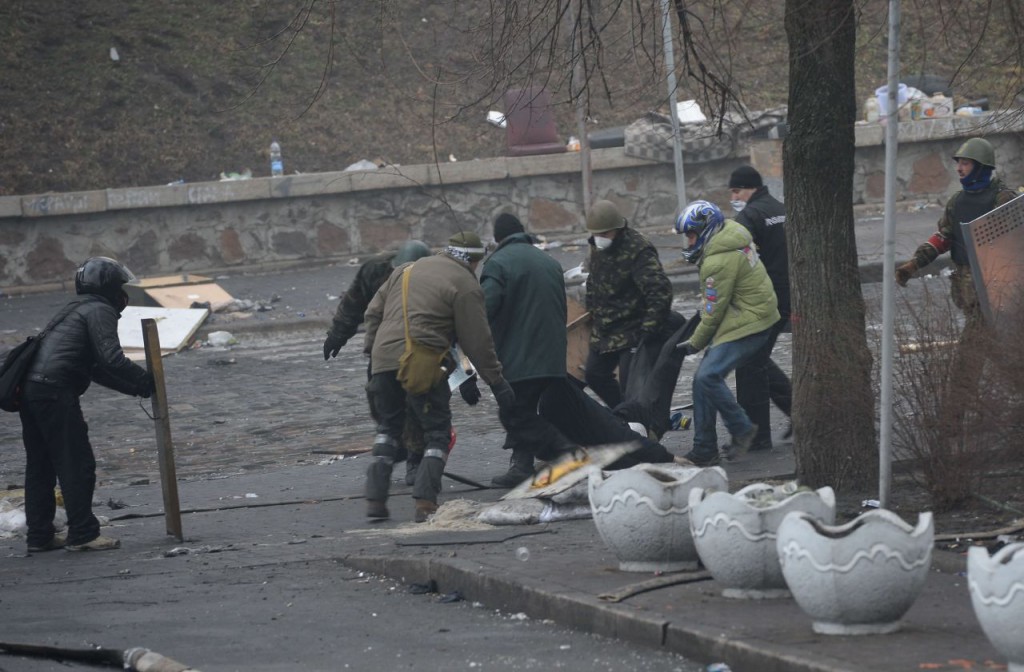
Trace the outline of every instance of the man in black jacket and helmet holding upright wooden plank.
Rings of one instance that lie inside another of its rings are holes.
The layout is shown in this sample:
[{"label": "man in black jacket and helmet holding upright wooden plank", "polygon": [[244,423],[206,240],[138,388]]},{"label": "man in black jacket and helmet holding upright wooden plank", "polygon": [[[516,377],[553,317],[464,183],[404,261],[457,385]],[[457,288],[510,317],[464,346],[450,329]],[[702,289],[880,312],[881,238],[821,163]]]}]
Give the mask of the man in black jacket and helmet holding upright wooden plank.
[{"label": "man in black jacket and helmet holding upright wooden plank", "polygon": [[[75,274],[78,294],[51,321],[26,375],[19,411],[25,439],[25,515],[30,553],[67,548],[110,550],[121,543],[99,534],[92,514],[96,460],[79,397],[92,381],[148,397],[153,376],[121,349],[118,320],[128,305],[123,286],[135,280],[108,257],[92,257]],[[54,324],[55,323],[55,324]],[[68,535],[56,535],[53,488],[59,482]]]}]

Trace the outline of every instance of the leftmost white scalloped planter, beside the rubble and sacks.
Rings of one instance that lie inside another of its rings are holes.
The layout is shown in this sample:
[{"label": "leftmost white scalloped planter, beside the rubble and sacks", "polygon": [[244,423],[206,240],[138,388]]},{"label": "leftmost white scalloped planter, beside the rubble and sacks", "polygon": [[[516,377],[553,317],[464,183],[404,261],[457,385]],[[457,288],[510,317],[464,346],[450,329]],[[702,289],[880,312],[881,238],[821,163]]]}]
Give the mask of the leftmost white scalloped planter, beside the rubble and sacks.
[{"label": "leftmost white scalloped planter, beside the rubble and sacks", "polygon": [[721,467],[638,464],[593,471],[590,507],[601,539],[624,572],[681,572],[697,568],[690,535],[690,490],[729,489]]}]

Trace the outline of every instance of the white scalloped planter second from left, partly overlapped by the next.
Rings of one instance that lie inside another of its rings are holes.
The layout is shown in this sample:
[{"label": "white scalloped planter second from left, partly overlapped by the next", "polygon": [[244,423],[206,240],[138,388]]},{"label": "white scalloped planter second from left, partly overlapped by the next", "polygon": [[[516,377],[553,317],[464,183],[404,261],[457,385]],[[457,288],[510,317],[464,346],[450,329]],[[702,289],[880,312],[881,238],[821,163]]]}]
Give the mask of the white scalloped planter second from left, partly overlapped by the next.
[{"label": "white scalloped planter second from left, partly overlapped by the next", "polygon": [[703,565],[724,589],[742,599],[788,597],[775,537],[782,518],[804,511],[826,524],[836,520],[831,488],[799,490],[754,484],[734,494],[690,491],[690,532]]}]

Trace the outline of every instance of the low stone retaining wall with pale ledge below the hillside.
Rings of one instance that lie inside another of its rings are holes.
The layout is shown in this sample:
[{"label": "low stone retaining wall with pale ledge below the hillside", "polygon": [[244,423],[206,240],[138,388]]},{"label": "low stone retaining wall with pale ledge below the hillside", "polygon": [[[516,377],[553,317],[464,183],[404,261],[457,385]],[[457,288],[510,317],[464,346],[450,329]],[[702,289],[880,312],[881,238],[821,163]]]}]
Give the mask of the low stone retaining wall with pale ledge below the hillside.
[{"label": "low stone retaining wall with pale ledge below the hillside", "polygon": [[[964,137],[996,146],[999,174],[1024,183],[1019,118],[952,118],[900,124],[900,200],[941,201],[958,187],[949,163]],[[856,203],[884,198],[884,128],[858,126]],[[781,141],[758,140],[745,156],[686,163],[688,199],[725,206],[729,173],[753,163],[781,193]],[[668,227],[676,210],[672,164],[592,152],[595,199],[617,203],[640,227]],[[111,188],[0,198],[0,287],[68,282],[93,255],[123,260],[139,276],[314,262],[377,252],[418,238],[440,246],[455,230],[489,236],[503,210],[547,237],[584,234],[579,154],[440,165]]]}]

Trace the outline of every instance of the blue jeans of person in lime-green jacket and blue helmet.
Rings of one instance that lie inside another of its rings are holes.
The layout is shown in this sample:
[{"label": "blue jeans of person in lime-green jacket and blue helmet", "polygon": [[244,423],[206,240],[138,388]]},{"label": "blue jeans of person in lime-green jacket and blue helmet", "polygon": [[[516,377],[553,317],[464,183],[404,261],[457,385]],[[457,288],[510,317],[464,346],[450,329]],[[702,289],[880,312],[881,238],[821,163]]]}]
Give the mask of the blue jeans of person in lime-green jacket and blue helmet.
[{"label": "blue jeans of person in lime-green jacket and blue helmet", "polygon": [[693,452],[708,456],[718,453],[718,414],[732,436],[750,431],[753,426],[746,413],[736,403],[725,378],[757,356],[770,338],[771,330],[712,345],[700,360],[693,376]]}]

